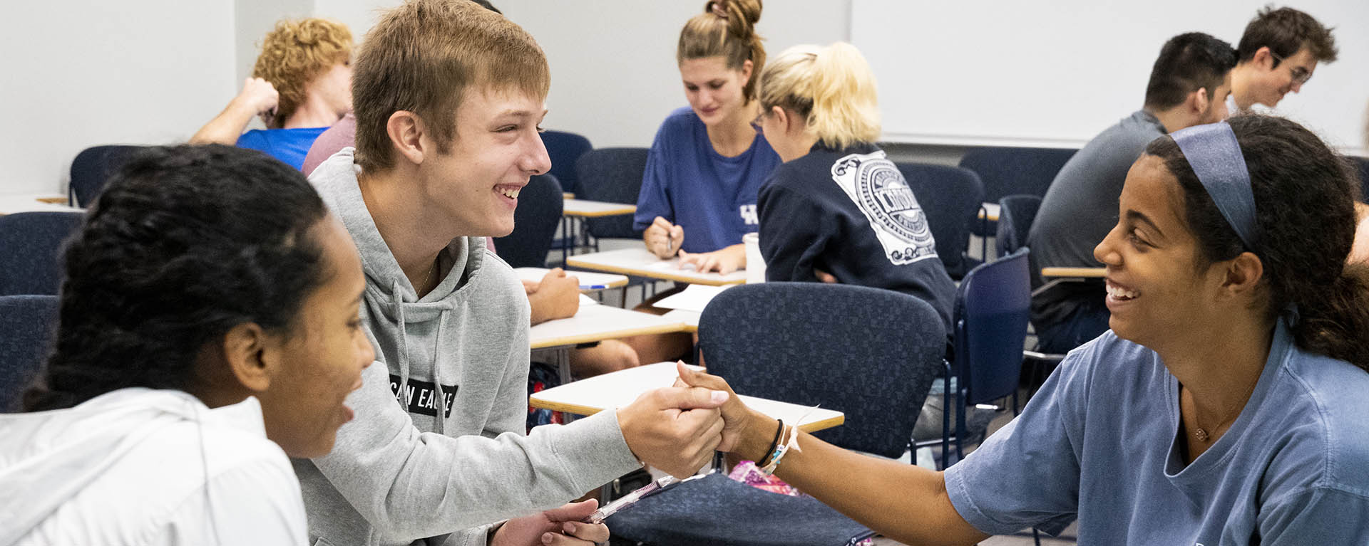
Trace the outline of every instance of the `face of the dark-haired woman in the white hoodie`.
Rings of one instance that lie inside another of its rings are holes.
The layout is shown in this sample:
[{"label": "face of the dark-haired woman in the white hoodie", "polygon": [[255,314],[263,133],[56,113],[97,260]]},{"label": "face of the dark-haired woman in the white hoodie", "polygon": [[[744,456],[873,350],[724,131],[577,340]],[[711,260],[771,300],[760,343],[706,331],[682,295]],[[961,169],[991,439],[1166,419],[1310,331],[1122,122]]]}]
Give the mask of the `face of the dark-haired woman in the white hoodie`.
[{"label": "face of the dark-haired woman in the white hoodie", "polygon": [[271,335],[267,359],[275,374],[257,394],[267,437],[292,457],[333,450],[338,428],[352,420],[344,401],[361,387],[361,369],[375,360],[361,330],[366,278],[352,237],[331,215],[312,231],[329,278],[300,305],[290,331]]}]

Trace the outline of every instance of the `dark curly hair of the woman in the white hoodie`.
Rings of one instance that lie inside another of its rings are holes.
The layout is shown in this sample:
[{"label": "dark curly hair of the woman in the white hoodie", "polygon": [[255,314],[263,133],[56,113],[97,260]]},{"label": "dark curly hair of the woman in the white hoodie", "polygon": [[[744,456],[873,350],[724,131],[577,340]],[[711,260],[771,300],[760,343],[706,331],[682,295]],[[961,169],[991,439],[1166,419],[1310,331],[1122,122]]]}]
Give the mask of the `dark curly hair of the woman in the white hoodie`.
[{"label": "dark curly hair of the woman in the white hoodie", "polygon": [[300,171],[256,151],[138,153],[67,244],[56,343],[26,411],[185,389],[199,352],[234,326],[289,333],[333,274],[312,234],[326,212]]}]

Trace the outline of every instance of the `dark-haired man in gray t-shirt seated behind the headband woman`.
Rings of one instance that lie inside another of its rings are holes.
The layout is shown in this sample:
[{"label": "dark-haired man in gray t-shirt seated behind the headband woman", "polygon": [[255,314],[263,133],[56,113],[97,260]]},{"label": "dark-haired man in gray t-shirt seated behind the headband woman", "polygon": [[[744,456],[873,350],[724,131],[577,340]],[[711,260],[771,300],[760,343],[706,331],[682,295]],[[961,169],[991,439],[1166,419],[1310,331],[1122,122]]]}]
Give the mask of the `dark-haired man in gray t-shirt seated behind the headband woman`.
[{"label": "dark-haired man in gray t-shirt seated behind the headband woman", "polygon": [[[1027,235],[1032,287],[1042,267],[1102,267],[1094,246],[1117,223],[1117,198],[1146,144],[1180,129],[1227,116],[1231,44],[1203,33],[1179,34],[1160,49],[1146,104],[1088,141],[1060,170]],[[1039,349],[1064,353],[1108,330],[1101,282],[1064,282],[1032,298]]]}]

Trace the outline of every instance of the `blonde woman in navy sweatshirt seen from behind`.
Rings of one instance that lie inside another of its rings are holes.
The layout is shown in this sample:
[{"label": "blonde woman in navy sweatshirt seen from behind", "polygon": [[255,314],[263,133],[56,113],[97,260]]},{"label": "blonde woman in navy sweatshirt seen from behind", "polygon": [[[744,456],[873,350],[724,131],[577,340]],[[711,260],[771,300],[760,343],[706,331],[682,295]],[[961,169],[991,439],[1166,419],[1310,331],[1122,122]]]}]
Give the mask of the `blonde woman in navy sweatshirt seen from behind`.
[{"label": "blonde woman in navy sweatshirt seen from behind", "polygon": [[767,281],[916,296],[950,326],[956,285],[927,215],[879,138],[875,75],[850,44],[797,45],[761,73],[758,125],[784,164],[761,186]]}]

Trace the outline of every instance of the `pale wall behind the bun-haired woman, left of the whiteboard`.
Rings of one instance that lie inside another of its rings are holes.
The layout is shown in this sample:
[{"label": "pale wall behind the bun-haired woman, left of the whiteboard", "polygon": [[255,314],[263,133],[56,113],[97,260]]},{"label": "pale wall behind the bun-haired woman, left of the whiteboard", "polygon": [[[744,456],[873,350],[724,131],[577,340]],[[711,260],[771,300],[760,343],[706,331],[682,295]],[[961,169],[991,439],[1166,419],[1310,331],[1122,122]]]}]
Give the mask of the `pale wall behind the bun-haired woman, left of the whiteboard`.
[{"label": "pale wall behind the bun-haired woman, left of the whiteboard", "polygon": [[[493,0],[526,29],[552,66],[546,129],[596,146],[648,146],[671,109],[686,105],[675,67],[680,27],[702,0]],[[315,14],[357,36],[397,0],[316,0]],[[850,0],[776,0],[757,30],[771,55],[794,44],[847,40]]]}]

